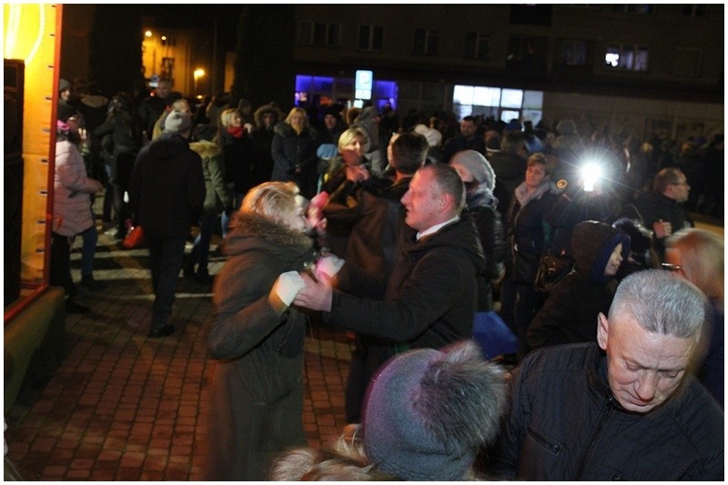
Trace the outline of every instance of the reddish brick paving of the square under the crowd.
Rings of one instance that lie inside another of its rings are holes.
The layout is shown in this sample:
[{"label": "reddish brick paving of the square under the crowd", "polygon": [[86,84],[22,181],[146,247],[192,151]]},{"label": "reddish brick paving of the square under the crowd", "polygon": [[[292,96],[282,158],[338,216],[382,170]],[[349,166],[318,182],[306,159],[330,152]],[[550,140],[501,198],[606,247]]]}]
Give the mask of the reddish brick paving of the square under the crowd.
[{"label": "reddish brick paving of the square under the crowd", "polygon": [[[215,366],[207,357],[211,287],[180,273],[175,333],[147,338],[153,301],[147,260],[146,249],[124,250],[99,234],[95,278],[106,288],[78,287],[77,301],[91,311],[66,316],[65,359],[7,417],[8,457],[25,480],[203,480],[207,385]],[[224,261],[213,252],[210,273]],[[311,447],[320,449],[345,425],[350,356],[343,331],[309,325],[303,420]]]}]

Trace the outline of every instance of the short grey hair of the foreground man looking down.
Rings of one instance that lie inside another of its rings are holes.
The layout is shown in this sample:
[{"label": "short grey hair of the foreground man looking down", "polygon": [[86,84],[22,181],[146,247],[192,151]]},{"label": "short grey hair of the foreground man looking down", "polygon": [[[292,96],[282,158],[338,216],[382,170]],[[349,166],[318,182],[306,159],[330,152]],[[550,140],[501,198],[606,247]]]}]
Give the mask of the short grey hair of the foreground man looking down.
[{"label": "short grey hair of the foreground man looking down", "polygon": [[632,316],[651,333],[698,341],[706,301],[700,289],[662,269],[647,269],[624,278],[609,309],[610,323]]}]

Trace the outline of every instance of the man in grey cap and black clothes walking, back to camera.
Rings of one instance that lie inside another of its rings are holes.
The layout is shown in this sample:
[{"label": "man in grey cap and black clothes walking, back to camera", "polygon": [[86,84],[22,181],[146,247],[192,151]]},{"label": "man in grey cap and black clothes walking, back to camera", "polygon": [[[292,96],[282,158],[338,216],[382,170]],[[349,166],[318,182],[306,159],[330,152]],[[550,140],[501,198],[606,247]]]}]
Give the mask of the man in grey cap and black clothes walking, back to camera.
[{"label": "man in grey cap and black clothes walking, back to camera", "polygon": [[172,111],[162,136],[139,151],[129,182],[129,206],[144,228],[151,259],[155,300],[150,338],[175,330],[169,316],[185,241],[205,203],[202,159],[187,141],[191,126],[187,113]]}]

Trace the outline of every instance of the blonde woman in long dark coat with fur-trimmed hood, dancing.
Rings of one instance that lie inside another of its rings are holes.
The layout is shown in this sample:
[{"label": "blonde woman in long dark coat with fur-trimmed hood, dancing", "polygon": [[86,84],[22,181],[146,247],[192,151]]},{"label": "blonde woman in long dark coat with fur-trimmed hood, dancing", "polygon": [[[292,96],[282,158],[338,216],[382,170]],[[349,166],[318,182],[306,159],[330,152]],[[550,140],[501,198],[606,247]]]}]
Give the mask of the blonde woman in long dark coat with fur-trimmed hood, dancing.
[{"label": "blonde woman in long dark coat with fur-trimmed hood, dancing", "polygon": [[316,256],[301,202],[293,183],[253,187],[227,232],[208,341],[217,367],[206,480],[266,480],[277,454],[306,444],[306,316],[289,307]]}]

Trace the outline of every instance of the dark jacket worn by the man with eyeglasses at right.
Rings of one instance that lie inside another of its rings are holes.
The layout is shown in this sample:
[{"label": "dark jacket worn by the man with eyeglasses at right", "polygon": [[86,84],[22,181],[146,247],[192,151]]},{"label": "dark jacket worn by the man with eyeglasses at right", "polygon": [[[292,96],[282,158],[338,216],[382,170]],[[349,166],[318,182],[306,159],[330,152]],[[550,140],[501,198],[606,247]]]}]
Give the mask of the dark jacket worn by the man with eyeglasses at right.
[{"label": "dark jacket worn by the man with eyeglasses at right", "polygon": [[[660,221],[669,222],[672,225],[672,234],[686,227],[695,227],[693,219],[673,198],[665,197],[656,192],[643,193],[635,197],[632,203],[622,208],[619,217],[629,217],[642,223],[642,226],[652,230],[652,224]],[[653,238],[655,251],[664,261],[664,239]]]}]

